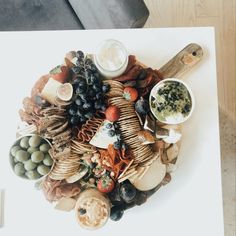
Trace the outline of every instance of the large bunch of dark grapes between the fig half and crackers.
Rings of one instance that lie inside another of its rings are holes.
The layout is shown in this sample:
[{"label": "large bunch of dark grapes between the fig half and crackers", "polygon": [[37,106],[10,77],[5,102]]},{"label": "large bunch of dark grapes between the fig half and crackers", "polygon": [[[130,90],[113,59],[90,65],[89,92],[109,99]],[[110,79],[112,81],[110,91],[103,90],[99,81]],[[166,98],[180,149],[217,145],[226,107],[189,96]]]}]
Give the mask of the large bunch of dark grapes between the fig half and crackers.
[{"label": "large bunch of dark grapes between the fig half and crackers", "polygon": [[102,76],[90,58],[82,51],[78,51],[76,56],[76,66],[72,67],[73,102],[68,107],[72,126],[85,123],[98,110],[105,111],[104,95],[110,89],[108,84],[103,84]]}]

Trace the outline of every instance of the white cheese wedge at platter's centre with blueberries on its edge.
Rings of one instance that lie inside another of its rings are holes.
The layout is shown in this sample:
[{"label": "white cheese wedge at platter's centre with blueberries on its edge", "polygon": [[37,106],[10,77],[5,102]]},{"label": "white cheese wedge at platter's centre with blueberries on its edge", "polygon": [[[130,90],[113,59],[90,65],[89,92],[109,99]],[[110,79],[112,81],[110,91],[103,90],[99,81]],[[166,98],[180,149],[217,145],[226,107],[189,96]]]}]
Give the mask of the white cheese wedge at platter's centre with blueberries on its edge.
[{"label": "white cheese wedge at platter's centre with blueberries on its edge", "polygon": [[106,128],[106,125],[108,123],[111,123],[111,122],[108,120],[103,121],[97,133],[93,136],[93,138],[89,142],[91,145],[98,148],[107,149],[109,144],[113,144],[114,142],[117,141],[116,135],[114,135],[113,137],[110,137],[108,135],[109,129]]}]

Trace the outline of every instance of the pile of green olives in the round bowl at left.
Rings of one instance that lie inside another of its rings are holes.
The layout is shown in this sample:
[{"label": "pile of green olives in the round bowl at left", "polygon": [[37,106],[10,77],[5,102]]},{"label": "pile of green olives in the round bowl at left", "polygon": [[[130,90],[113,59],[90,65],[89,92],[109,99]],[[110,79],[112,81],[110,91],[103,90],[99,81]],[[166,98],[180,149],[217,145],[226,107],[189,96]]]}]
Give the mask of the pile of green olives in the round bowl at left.
[{"label": "pile of green olives in the round bowl at left", "polygon": [[38,135],[18,140],[10,151],[15,174],[27,179],[39,179],[47,175],[53,164],[49,149],[50,145]]}]

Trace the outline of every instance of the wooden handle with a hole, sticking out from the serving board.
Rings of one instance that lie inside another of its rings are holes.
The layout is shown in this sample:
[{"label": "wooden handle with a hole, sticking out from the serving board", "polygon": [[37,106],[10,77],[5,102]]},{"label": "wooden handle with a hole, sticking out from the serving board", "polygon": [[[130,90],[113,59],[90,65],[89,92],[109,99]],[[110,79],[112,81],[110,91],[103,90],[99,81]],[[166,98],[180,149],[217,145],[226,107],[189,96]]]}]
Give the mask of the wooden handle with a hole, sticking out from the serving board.
[{"label": "wooden handle with a hole, sticking out from the serving board", "polygon": [[202,48],[198,44],[191,43],[162,66],[159,69],[159,72],[164,79],[178,77],[191,69],[202,59],[202,57]]}]

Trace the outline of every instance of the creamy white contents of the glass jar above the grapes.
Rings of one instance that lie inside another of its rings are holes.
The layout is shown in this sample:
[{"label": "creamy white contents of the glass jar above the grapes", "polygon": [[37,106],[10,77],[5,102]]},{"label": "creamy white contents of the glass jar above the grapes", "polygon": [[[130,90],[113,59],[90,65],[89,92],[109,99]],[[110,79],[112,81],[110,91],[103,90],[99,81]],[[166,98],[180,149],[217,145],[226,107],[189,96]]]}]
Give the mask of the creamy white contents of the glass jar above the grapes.
[{"label": "creamy white contents of the glass jar above the grapes", "polygon": [[108,71],[118,70],[124,65],[126,57],[124,49],[113,41],[104,44],[97,54],[99,65]]}]

